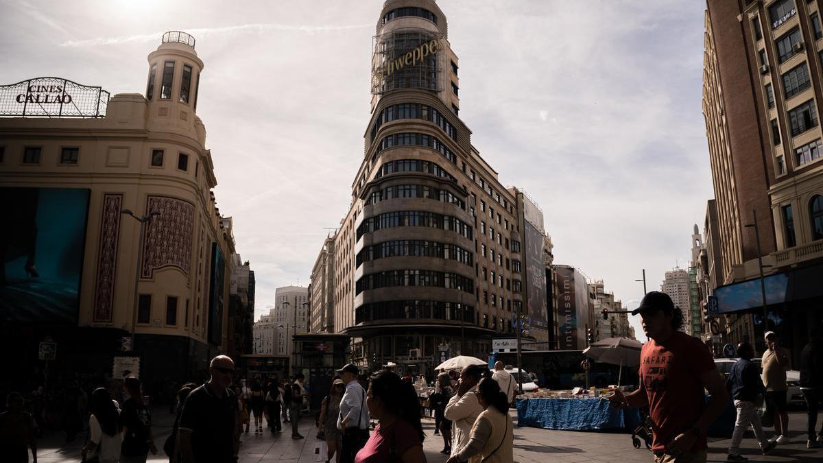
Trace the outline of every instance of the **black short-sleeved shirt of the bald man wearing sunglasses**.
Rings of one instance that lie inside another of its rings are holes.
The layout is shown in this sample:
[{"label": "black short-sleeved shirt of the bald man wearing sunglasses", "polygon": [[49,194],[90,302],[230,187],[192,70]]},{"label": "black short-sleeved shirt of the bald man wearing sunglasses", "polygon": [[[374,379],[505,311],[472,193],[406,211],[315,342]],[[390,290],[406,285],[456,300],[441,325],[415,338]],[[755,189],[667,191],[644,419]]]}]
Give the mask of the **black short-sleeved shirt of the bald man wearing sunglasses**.
[{"label": "black short-sleeved shirt of the bald man wearing sunglasses", "polygon": [[235,395],[214,395],[206,385],[192,391],[183,405],[181,430],[192,433],[194,461],[236,461]]}]

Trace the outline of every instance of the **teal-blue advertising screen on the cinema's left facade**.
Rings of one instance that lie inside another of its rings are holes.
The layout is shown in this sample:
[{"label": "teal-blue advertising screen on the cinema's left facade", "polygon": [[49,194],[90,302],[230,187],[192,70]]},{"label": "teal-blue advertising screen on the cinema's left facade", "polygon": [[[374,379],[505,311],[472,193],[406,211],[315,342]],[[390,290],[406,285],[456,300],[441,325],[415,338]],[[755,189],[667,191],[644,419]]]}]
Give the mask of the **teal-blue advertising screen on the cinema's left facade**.
[{"label": "teal-blue advertising screen on the cinema's left facade", "polygon": [[0,320],[76,323],[88,189],[0,188]]}]

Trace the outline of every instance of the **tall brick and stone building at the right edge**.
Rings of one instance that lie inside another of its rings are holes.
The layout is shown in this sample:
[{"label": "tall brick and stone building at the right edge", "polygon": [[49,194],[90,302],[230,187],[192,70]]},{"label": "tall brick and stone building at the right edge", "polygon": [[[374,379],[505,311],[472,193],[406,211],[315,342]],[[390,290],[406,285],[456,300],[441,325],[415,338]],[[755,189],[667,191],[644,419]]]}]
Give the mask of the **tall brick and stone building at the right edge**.
[{"label": "tall brick and stone building at the right edge", "polygon": [[823,321],[820,15],[817,0],[707,2],[704,116],[724,285],[714,297],[732,342],[775,330],[797,352]]}]

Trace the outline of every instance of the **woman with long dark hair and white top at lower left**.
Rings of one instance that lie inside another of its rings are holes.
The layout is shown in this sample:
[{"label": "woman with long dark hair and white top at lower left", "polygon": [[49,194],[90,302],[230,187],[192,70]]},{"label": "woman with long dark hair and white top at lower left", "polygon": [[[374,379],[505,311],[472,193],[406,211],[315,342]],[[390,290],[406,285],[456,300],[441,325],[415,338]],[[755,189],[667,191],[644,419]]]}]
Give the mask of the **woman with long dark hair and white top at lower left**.
[{"label": "woman with long dark hair and white top at lower left", "polygon": [[89,442],[83,447],[83,458],[91,460],[96,457],[100,463],[117,463],[122,445],[123,423],[120,423],[120,410],[114,406],[109,391],[98,387],[91,393]]}]

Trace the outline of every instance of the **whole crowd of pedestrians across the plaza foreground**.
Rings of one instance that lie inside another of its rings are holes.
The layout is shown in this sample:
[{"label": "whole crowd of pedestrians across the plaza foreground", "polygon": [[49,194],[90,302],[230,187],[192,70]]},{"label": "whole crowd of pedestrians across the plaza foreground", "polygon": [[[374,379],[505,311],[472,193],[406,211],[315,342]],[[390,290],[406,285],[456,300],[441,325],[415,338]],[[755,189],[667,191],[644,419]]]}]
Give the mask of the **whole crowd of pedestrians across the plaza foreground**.
[{"label": "whole crowd of pedestrians across the plaza foreground", "polygon": [[[764,335],[762,372],[752,361],[754,346],[742,342],[737,345],[739,359],[724,381],[709,348],[680,330],[682,312],[666,294],[649,292],[632,313],[641,316],[649,336],[640,352],[639,386],[628,394],[616,389],[609,402],[618,409],[648,409],[656,463],[706,461],[709,426],[730,401],[737,419],[728,461],[748,460],[740,447],[750,427],[764,455],[790,442],[787,371],[792,367],[791,355],[774,332]],[[807,402],[807,447],[823,447],[823,428],[817,431],[823,398],[820,327],[811,329],[799,359],[800,390]],[[208,381],[184,384],[174,394],[172,432],[160,447],[170,461],[237,461],[244,435],[261,434],[265,428],[278,434],[283,423],[291,423],[292,439],[305,438],[300,434],[300,419],[312,391],[303,374],[247,381],[238,376],[235,363],[225,355],[212,358],[208,373]],[[321,460],[426,461],[415,379],[388,370],[371,376],[363,373],[351,363],[336,370],[328,395],[318,401],[316,438],[325,444]],[[441,453],[447,463],[514,461],[514,423],[509,417],[514,388],[515,381],[502,362],[495,363],[493,373],[479,365],[439,373],[428,399],[435,415],[434,434],[443,440]],[[53,418],[49,405],[44,405],[48,403],[44,391],[35,391],[28,407],[24,395],[7,395],[7,408],[0,413],[2,461],[29,461],[31,453],[36,462],[39,429]],[[87,427],[83,461],[145,462],[150,452],[159,452],[151,407],[137,377],[124,378],[122,392],[114,393],[111,388],[97,387],[86,395],[76,383],[69,383],[62,396],[67,404],[62,414],[67,442]],[[766,436],[764,422],[773,423],[774,436]]]}]

